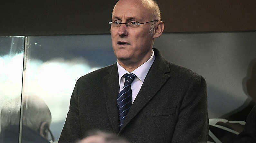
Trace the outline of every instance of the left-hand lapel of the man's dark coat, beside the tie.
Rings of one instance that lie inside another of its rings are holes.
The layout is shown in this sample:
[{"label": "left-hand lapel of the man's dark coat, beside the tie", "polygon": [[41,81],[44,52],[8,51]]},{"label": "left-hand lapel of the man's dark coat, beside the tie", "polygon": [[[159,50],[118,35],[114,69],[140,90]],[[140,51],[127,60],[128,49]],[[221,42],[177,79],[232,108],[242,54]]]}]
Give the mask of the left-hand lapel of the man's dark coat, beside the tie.
[{"label": "left-hand lapel of the man's dark coat, beside the tie", "polygon": [[117,96],[119,93],[119,79],[118,79],[118,70],[117,64],[112,65],[112,68],[109,69],[108,74],[105,76],[104,80],[104,94],[106,96],[106,105],[107,112],[109,116],[109,120],[111,122],[113,131],[119,132],[119,118],[118,118],[118,110],[117,110]]}]

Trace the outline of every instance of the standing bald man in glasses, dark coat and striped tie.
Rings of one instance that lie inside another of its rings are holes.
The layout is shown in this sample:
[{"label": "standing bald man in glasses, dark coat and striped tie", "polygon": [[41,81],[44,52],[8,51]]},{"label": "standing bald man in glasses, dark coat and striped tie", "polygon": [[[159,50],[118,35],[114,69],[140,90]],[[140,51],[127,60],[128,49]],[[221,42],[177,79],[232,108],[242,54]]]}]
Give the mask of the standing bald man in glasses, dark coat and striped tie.
[{"label": "standing bald man in glasses, dark coat and striped tie", "polygon": [[95,129],[132,143],[206,141],[204,78],[152,50],[164,30],[157,4],[119,0],[109,23],[117,63],[78,79],[59,143]]}]

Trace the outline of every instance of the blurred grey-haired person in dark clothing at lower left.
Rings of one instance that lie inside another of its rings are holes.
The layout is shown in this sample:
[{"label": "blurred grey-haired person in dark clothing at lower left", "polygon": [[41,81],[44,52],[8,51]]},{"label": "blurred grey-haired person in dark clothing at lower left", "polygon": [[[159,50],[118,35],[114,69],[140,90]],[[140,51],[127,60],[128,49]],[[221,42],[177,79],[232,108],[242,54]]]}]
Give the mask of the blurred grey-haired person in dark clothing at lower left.
[{"label": "blurred grey-haired person in dark clothing at lower left", "polygon": [[23,96],[22,99],[22,120],[20,120],[20,98],[7,102],[1,109],[0,142],[18,143],[22,121],[23,143],[49,143],[48,134],[52,116],[48,106],[38,96]]}]

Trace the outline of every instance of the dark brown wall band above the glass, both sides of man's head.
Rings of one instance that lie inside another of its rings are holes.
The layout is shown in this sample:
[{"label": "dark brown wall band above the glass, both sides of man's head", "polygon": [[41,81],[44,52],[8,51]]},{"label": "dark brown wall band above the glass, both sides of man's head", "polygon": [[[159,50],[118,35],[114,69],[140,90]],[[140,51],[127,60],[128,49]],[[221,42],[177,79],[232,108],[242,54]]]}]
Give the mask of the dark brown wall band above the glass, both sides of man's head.
[{"label": "dark brown wall band above the glass, both sides of man's head", "polygon": [[[0,36],[109,33],[117,0],[4,1]],[[158,0],[164,32],[256,30],[255,0]]]}]

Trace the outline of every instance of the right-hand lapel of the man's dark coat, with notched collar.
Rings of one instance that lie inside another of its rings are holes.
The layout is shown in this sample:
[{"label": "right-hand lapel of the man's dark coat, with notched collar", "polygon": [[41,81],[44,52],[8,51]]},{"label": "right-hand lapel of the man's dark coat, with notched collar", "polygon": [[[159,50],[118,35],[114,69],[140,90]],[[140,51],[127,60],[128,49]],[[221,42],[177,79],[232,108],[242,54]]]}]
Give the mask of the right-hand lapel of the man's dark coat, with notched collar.
[{"label": "right-hand lapel of the man's dark coat, with notched collar", "polygon": [[138,112],[149,102],[149,100],[160,90],[169,75],[169,64],[164,60],[160,53],[154,49],[156,59],[152,64],[148,74],[142,84],[142,87],[125,118],[124,124],[119,133],[125,126],[138,114]]}]

